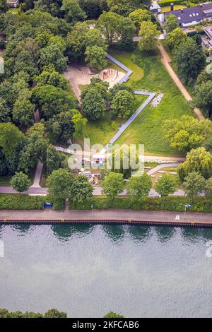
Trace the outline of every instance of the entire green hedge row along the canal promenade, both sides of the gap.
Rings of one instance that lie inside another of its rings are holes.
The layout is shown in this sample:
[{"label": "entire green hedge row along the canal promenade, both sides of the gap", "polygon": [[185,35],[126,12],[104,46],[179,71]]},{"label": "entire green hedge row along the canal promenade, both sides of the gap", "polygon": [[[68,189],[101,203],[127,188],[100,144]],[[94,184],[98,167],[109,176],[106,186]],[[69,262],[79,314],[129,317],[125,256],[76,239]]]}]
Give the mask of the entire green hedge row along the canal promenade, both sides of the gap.
[{"label": "entire green hedge row along the canal promenade, both sides of the gap", "polygon": [[[42,210],[43,203],[52,202],[54,210],[64,210],[64,201],[52,201],[50,196],[27,196],[27,195],[0,195],[0,210]],[[69,203],[70,209],[105,210],[107,208],[123,208],[132,210],[152,210],[152,211],[184,211],[184,206],[189,202],[187,197],[166,197],[166,198],[147,198],[145,202],[132,203],[129,197],[115,198],[114,202],[105,197],[93,197],[83,203]],[[192,212],[212,212],[211,198],[199,197],[191,203]]]}]

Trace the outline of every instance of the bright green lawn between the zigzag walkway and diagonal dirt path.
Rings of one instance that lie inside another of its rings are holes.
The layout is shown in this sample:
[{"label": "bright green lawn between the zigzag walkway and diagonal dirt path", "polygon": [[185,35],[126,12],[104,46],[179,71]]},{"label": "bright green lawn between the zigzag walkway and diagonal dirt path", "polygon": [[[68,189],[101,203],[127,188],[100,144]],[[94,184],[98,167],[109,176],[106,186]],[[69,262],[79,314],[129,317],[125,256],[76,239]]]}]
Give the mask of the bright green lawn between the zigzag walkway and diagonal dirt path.
[{"label": "bright green lawn between the zigzag walkway and diagonal dirt path", "polygon": [[134,71],[126,83],[131,88],[164,93],[158,107],[148,105],[117,143],[142,143],[145,145],[146,155],[179,155],[163,141],[163,126],[166,119],[181,117],[183,114],[193,115],[193,112],[161,64],[158,53],[146,54],[136,50],[133,54],[129,54],[113,50],[110,54]]}]

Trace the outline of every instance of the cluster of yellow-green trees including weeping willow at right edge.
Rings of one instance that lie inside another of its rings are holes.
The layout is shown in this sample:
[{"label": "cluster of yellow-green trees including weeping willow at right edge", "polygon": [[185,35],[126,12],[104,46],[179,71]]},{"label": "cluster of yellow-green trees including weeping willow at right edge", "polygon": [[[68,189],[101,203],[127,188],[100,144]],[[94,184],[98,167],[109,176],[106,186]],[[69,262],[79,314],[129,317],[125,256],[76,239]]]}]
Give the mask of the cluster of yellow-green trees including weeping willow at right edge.
[{"label": "cluster of yellow-green trees including weeping willow at right edge", "polygon": [[211,120],[182,116],[166,121],[164,132],[164,138],[172,148],[187,153],[186,160],[178,167],[179,180],[184,182],[187,194],[197,196],[205,192],[207,196],[211,196]]}]

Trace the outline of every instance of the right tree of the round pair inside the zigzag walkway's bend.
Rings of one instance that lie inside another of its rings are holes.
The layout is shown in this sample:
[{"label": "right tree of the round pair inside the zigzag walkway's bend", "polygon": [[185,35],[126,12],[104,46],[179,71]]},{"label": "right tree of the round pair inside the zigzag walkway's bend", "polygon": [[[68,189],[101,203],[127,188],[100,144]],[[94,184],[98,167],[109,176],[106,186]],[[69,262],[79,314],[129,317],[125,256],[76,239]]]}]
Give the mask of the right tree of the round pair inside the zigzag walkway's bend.
[{"label": "right tree of the round pair inside the zigzag walkway's bend", "polygon": [[113,97],[110,114],[112,119],[122,117],[127,119],[135,107],[135,95],[128,90],[119,90]]}]

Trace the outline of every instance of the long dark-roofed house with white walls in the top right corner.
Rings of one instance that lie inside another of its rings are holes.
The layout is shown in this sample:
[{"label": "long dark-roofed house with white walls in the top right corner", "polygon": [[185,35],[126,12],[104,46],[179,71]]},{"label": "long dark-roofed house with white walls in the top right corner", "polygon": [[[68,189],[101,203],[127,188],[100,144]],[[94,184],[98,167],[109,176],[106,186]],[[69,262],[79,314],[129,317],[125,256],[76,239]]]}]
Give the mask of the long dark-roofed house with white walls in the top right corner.
[{"label": "long dark-roofed house with white walls in the top right corner", "polygon": [[[171,8],[171,7],[170,7]],[[161,23],[165,22],[167,15],[175,15],[177,22],[181,27],[199,24],[203,21],[212,21],[212,2],[200,4],[199,6],[167,11],[166,13],[159,13],[158,20]]]}]

